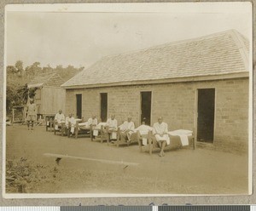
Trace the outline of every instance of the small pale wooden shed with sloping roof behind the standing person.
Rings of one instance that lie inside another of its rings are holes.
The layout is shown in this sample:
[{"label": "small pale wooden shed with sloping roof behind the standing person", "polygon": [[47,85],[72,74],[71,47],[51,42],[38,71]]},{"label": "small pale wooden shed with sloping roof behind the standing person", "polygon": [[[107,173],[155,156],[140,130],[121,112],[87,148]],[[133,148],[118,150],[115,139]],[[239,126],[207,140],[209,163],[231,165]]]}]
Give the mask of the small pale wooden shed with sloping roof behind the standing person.
[{"label": "small pale wooden shed with sloping roof behind the standing person", "polygon": [[35,103],[38,115],[55,114],[60,109],[65,112],[66,92],[61,88],[65,80],[57,73],[42,74],[28,83],[28,88],[38,88]]}]

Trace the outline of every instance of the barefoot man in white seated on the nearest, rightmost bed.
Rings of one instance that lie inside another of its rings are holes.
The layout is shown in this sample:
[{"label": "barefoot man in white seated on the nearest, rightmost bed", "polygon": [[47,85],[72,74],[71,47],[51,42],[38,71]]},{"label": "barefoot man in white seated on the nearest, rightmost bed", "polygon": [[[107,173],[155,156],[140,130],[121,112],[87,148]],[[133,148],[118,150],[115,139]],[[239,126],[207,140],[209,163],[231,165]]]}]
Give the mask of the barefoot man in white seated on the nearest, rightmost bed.
[{"label": "barefoot man in white seated on the nearest, rightmost bed", "polygon": [[159,156],[165,156],[164,148],[166,145],[170,145],[170,138],[168,135],[168,125],[163,123],[163,117],[159,117],[158,122],[154,123],[153,134],[161,149]]}]

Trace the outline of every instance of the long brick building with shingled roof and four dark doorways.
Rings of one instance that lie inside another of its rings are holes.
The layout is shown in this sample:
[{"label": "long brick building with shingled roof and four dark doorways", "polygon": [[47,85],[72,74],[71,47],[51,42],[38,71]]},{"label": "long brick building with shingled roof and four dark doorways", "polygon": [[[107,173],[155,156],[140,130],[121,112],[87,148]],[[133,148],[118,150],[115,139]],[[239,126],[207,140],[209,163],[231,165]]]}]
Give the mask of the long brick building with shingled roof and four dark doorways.
[{"label": "long brick building with shingled roof and four dark doorways", "polygon": [[249,42],[235,30],[102,58],[71,78],[66,111],[131,116],[195,132],[196,145],[247,151]]}]

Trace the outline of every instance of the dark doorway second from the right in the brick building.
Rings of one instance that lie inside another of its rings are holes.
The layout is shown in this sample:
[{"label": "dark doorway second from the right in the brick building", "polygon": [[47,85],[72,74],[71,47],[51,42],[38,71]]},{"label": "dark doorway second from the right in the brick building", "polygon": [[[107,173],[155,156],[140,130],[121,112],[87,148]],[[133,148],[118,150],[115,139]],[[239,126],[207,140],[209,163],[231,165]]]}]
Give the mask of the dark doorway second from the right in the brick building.
[{"label": "dark doorway second from the right in the brick building", "polygon": [[145,123],[151,123],[151,92],[141,92],[141,123],[145,119]]}]

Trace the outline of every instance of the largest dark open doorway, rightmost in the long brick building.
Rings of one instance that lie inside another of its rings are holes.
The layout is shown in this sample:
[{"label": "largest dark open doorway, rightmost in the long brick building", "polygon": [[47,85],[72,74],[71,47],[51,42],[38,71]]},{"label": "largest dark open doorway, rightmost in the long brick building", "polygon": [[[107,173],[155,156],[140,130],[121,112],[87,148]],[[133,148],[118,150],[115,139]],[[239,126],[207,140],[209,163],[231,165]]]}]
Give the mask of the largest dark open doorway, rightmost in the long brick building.
[{"label": "largest dark open doorway, rightmost in the long brick building", "polygon": [[213,143],[215,88],[198,89],[197,141]]}]

